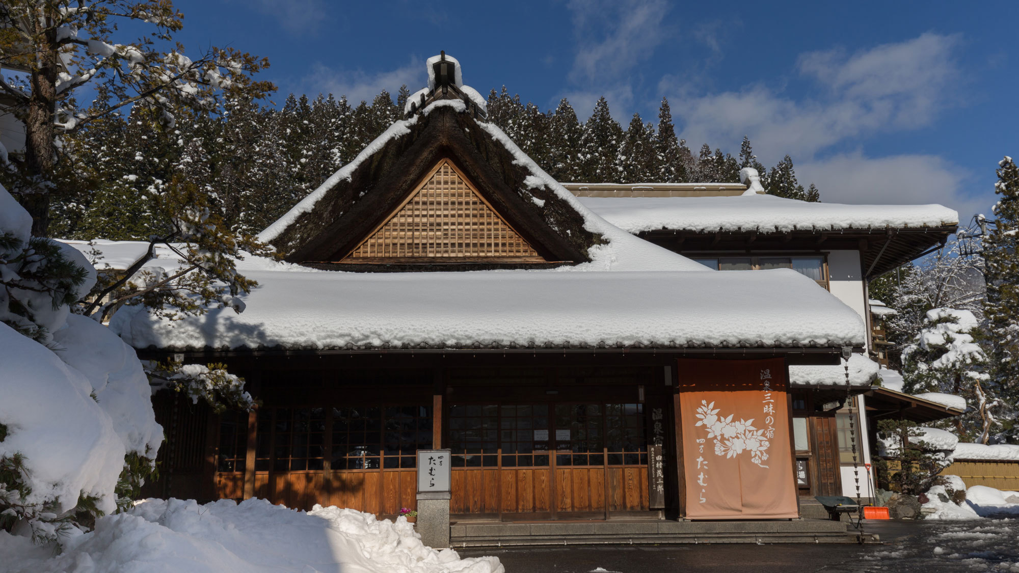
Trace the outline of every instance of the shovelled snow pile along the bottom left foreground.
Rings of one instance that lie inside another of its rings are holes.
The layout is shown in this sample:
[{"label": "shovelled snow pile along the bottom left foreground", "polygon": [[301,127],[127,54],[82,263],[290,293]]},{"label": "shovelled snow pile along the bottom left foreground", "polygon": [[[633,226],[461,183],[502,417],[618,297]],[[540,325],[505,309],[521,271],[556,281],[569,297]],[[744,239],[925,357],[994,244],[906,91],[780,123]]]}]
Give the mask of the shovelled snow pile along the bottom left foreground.
[{"label": "shovelled snow pile along the bottom left foreground", "polygon": [[497,558],[461,559],[421,543],[405,518],[378,521],[348,509],[299,512],[265,500],[147,500],[103,517],[58,557],[0,532],[6,571],[147,573],[503,573]]}]

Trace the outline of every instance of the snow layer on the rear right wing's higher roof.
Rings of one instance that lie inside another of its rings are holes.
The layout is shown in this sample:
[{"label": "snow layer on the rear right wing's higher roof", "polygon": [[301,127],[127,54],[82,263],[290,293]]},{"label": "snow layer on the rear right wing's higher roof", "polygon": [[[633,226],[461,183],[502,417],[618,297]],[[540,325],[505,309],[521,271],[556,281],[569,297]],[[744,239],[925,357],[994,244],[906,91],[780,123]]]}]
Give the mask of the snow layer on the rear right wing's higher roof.
[{"label": "snow layer on the rear right wing's higher roof", "polygon": [[954,225],[959,213],[941,205],[807,203],[772,195],[739,197],[582,197],[608,222],[630,232],[675,229],[785,232]]}]

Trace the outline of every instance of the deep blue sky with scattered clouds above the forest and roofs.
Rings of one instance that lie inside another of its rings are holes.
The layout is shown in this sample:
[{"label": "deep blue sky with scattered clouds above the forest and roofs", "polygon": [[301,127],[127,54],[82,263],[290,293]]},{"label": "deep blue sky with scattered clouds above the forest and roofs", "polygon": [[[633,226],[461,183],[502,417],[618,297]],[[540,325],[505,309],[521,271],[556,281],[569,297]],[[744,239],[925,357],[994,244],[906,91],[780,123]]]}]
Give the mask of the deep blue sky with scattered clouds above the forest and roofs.
[{"label": "deep blue sky with scattered clouds above the forest and roofs", "polygon": [[[669,99],[680,137],[765,165],[845,203],[988,212],[995,167],[1019,154],[1015,2],[330,2],[178,0],[189,51],[266,56],[289,92],[368,99],[425,83],[455,56],[482,94],[505,85],[583,118],[604,95],[626,125]],[[989,212],[988,212],[989,214]]]}]

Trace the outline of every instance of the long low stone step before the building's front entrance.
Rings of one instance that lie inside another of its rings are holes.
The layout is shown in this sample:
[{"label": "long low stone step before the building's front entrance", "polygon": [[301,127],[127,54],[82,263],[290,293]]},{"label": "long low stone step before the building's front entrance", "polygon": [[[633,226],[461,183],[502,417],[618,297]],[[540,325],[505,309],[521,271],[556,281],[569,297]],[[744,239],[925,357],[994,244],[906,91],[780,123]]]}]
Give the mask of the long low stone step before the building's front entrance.
[{"label": "long low stone step before the building's front entrance", "polygon": [[[457,523],[451,548],[665,543],[846,543],[859,542],[846,523],[776,521],[593,521],[584,523]],[[865,541],[877,541],[867,535]]]}]

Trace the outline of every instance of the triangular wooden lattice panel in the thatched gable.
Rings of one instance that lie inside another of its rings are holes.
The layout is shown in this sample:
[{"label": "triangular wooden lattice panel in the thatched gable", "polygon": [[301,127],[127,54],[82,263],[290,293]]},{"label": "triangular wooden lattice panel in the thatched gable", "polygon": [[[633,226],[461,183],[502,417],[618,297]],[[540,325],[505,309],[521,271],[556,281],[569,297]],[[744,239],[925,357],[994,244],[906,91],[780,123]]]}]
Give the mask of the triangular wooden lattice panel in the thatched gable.
[{"label": "triangular wooden lattice panel in the thatched gable", "polygon": [[340,262],[543,263],[448,159]]}]

